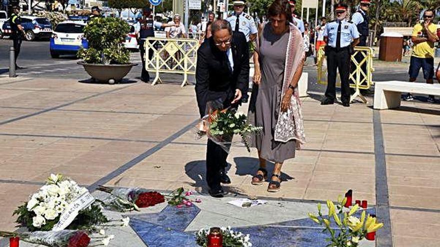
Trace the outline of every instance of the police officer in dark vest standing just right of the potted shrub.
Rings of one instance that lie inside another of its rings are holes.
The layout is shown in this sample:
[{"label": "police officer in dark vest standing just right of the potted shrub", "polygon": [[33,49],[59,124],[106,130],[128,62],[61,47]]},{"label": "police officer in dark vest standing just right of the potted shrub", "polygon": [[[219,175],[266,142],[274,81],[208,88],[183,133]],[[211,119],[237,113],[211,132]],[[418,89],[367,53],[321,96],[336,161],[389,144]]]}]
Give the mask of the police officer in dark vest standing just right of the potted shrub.
[{"label": "police officer in dark vest standing just right of the potted shrub", "polygon": [[[142,11],[142,18],[139,20],[140,24],[140,30],[139,30],[139,38],[137,43],[139,44],[139,50],[140,50],[140,58],[142,59],[142,72],[140,75],[140,79],[143,82],[149,81],[149,73],[145,69],[145,39],[147,37],[154,37],[154,27],[160,28],[160,27],[168,27],[173,26],[174,24],[163,24],[161,22],[155,21],[153,19],[153,16],[151,14],[152,9],[149,7],[145,7]],[[148,52],[148,60],[151,59],[153,55],[153,51],[150,49]]]}]

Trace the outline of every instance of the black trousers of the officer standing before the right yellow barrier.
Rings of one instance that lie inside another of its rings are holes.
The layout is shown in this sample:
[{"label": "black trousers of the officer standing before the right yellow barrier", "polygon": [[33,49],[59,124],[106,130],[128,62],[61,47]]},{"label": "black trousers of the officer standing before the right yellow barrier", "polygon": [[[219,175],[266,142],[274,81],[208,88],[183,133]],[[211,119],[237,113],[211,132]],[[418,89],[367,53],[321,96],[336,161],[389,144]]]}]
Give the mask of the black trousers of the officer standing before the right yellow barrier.
[{"label": "black trousers of the officer standing before the right yellow barrier", "polygon": [[327,90],[325,97],[330,100],[336,99],[336,69],[339,69],[340,89],[342,102],[350,101],[350,84],[348,81],[350,71],[350,52],[348,47],[328,47],[327,52]]}]

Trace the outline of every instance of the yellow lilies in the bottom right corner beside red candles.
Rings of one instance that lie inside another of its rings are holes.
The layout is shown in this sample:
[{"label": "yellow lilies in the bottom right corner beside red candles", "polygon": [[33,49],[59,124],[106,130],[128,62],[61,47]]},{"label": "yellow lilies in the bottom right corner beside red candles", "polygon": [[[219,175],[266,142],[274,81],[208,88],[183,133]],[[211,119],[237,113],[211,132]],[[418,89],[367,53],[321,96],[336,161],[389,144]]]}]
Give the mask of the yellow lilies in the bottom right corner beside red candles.
[{"label": "yellow lilies in the bottom right corner beside red candles", "polygon": [[[359,242],[363,240],[367,234],[374,233],[383,227],[382,223],[376,223],[376,218],[368,215],[365,219],[365,211],[362,211],[360,218],[354,216],[359,210],[359,206],[355,204],[351,207],[349,212],[343,212],[342,208],[345,205],[346,198],[338,198],[338,204],[334,205],[332,201],[327,200],[328,216],[323,216],[321,213],[321,205],[318,204],[318,216],[308,213],[308,217],[325,227],[323,232],[328,232],[330,238],[326,239],[331,242],[327,247],[357,247]],[[336,224],[330,227],[331,222]]]}]

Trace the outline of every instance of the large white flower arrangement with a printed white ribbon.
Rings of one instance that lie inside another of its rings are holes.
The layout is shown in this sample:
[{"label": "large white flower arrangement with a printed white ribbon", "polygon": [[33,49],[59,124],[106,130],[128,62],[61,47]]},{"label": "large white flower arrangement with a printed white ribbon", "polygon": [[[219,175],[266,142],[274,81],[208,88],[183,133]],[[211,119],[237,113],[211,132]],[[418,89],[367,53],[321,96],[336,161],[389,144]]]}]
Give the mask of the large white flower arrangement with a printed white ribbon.
[{"label": "large white flower arrangement with a printed white ribbon", "polygon": [[59,174],[51,174],[46,184],[13,215],[31,232],[90,229],[108,221],[86,188]]}]

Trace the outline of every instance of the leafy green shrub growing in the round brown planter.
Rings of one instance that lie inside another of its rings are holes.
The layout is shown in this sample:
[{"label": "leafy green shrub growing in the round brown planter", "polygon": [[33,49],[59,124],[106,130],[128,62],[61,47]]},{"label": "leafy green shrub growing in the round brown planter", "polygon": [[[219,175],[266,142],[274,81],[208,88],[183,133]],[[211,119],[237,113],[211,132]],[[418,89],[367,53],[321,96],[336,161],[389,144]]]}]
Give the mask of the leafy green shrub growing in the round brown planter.
[{"label": "leafy green shrub growing in the round brown planter", "polygon": [[84,27],[89,48],[81,48],[77,55],[86,63],[128,64],[130,52],[122,42],[129,31],[130,26],[121,19],[93,19]]}]

